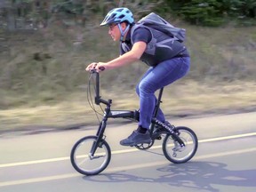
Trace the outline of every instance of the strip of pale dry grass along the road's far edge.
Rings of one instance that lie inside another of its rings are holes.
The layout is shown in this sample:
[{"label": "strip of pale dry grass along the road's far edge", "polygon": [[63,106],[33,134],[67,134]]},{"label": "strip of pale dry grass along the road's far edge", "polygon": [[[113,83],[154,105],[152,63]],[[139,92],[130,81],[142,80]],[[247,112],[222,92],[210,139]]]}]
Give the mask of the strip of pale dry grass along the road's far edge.
[{"label": "strip of pale dry grass along the road's far edge", "polygon": [[[180,81],[164,90],[162,108],[172,120],[177,117],[207,116],[209,114],[232,114],[256,109],[255,82],[202,84]],[[113,109],[133,110],[139,108],[139,100],[132,90],[102,91],[102,98],[113,99]],[[93,98],[92,98],[93,99]],[[1,131],[21,131],[37,128],[63,128],[79,125],[95,125],[98,120],[90,108],[85,92],[70,93],[62,101],[38,103],[34,107],[0,110]],[[102,114],[101,109],[96,106]],[[115,120],[110,120],[115,123]],[[118,122],[118,121],[116,121]]]}]

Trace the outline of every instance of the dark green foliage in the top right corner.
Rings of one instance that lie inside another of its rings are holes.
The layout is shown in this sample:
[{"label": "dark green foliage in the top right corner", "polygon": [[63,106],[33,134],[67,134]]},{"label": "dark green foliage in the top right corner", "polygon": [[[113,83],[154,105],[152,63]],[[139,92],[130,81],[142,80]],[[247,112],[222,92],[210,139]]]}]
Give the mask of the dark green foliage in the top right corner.
[{"label": "dark green foliage in the top right corner", "polygon": [[[165,0],[164,2],[171,7],[174,14],[196,25],[217,27],[230,20],[237,20],[239,25],[256,24],[255,0]],[[248,22],[250,19],[253,20]]]}]

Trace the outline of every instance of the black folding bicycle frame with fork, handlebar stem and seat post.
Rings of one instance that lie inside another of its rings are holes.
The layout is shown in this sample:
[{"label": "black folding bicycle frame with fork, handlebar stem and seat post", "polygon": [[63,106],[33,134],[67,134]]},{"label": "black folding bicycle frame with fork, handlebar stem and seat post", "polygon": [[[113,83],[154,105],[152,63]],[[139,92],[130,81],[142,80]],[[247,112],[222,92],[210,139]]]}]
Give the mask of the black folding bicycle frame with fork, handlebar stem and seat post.
[{"label": "black folding bicycle frame with fork, handlebar stem and seat post", "polygon": [[[96,88],[95,88],[95,104],[96,105],[100,105],[100,103],[103,103],[106,105],[105,111],[104,111],[104,116],[103,119],[99,125],[99,129],[98,132],[96,134],[96,136],[98,137],[98,139],[102,139],[104,137],[104,132],[107,126],[107,122],[108,122],[108,118],[128,118],[128,119],[132,119],[134,121],[139,122],[140,120],[140,111],[138,110],[111,110],[111,104],[112,104],[112,100],[103,100],[100,97],[100,75],[98,72],[96,71],[92,71],[92,73],[96,76]],[[160,104],[162,102],[162,95],[164,92],[164,87],[162,87],[159,91],[158,94],[158,98],[156,101],[156,107],[154,109],[154,115],[152,117],[151,120],[151,125],[150,125],[150,134],[152,134],[153,130],[154,130],[154,126],[156,124],[158,124],[159,126],[163,127],[164,129],[166,129],[166,131],[170,132],[172,134],[172,137],[174,140],[177,140],[180,143],[181,147],[184,147],[185,144],[182,140],[180,140],[180,137],[176,134],[175,127],[172,125],[172,127],[167,126],[166,124],[164,124],[163,122],[159,121],[156,119],[158,110],[160,108]],[[93,156],[97,146],[101,146],[100,145],[100,140],[97,140],[92,147],[92,151],[91,151],[91,155]]]}]

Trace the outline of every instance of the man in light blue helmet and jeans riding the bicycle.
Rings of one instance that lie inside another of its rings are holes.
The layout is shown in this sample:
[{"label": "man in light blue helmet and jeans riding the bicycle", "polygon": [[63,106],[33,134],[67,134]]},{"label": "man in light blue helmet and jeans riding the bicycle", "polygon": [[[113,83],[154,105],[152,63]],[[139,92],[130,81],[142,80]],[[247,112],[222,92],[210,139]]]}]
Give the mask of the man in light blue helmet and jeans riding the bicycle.
[{"label": "man in light blue helmet and jeans riding the bicycle", "polygon": [[[190,57],[187,48],[177,39],[152,28],[136,28],[132,12],[128,8],[115,8],[108,12],[100,26],[108,26],[108,34],[114,41],[120,41],[120,57],[108,62],[93,62],[86,70],[111,69],[132,64],[137,60],[149,68],[136,86],[140,97],[140,122],[138,129],[124,140],[123,146],[135,146],[151,142],[148,132],[156,105],[155,92],[172,84],[188,73]],[[132,30],[132,28],[134,30]],[[163,42],[164,44],[157,44]],[[165,122],[164,113],[159,109],[157,119]]]}]

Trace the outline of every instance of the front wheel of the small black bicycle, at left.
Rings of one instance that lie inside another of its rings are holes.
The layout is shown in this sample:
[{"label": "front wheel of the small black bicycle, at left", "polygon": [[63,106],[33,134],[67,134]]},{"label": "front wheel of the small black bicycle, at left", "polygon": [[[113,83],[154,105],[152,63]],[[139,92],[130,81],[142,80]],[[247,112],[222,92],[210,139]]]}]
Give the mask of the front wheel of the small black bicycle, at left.
[{"label": "front wheel of the small black bicycle, at left", "polygon": [[77,172],[84,175],[95,175],[108,166],[111,151],[106,140],[101,140],[94,155],[91,154],[97,136],[84,137],[78,140],[71,150],[70,160]]}]

